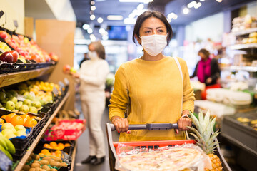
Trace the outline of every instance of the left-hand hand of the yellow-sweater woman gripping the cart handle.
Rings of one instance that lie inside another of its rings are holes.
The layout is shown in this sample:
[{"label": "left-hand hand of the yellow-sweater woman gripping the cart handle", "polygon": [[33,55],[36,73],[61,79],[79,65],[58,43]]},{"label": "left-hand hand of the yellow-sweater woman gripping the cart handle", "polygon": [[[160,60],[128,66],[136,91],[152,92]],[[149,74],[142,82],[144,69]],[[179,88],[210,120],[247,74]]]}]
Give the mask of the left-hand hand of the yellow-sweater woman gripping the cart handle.
[{"label": "left-hand hand of the yellow-sweater woman gripping the cart handle", "polygon": [[119,116],[113,116],[111,118],[111,123],[114,124],[115,129],[117,130],[118,133],[121,133],[121,132],[130,133],[131,132],[129,130],[129,121],[126,118],[121,118]]}]

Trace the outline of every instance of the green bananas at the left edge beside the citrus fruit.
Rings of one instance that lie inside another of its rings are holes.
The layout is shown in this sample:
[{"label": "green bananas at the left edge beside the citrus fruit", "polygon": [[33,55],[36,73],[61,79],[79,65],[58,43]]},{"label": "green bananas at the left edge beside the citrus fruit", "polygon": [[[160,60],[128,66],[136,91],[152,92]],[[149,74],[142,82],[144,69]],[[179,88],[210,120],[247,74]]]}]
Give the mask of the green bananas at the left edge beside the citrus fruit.
[{"label": "green bananas at the left edge beside the citrus fruit", "polygon": [[4,152],[4,154],[7,155],[11,160],[13,160],[13,157],[11,156],[15,154],[16,150],[14,145],[11,143],[10,140],[5,138],[3,135],[0,134],[0,150]]}]

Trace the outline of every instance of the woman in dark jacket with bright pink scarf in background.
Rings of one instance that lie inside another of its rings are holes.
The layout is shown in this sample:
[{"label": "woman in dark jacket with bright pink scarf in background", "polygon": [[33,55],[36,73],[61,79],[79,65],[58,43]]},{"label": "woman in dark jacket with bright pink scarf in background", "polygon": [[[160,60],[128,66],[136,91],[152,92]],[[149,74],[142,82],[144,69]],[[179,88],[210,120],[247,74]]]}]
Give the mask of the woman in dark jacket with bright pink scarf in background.
[{"label": "woman in dark jacket with bright pink scarf in background", "polygon": [[204,48],[198,51],[198,56],[201,57],[201,60],[196,64],[196,68],[190,78],[197,76],[198,81],[205,83],[206,86],[216,84],[221,74],[218,61],[215,58],[209,58],[210,53]]}]

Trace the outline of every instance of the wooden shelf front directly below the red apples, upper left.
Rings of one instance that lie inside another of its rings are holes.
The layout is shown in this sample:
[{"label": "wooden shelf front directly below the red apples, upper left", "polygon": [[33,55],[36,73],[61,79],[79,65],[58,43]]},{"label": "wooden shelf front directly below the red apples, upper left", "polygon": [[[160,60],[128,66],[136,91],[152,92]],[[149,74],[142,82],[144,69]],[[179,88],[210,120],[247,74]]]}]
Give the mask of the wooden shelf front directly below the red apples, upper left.
[{"label": "wooden shelf front directly below the red apples, upper left", "polygon": [[49,66],[46,68],[39,68],[29,71],[21,71],[16,73],[3,73],[0,74],[0,88],[4,86],[9,86],[15,83],[20,83],[22,81],[28,81],[32,78],[37,78],[45,74],[51,73],[55,66]]}]

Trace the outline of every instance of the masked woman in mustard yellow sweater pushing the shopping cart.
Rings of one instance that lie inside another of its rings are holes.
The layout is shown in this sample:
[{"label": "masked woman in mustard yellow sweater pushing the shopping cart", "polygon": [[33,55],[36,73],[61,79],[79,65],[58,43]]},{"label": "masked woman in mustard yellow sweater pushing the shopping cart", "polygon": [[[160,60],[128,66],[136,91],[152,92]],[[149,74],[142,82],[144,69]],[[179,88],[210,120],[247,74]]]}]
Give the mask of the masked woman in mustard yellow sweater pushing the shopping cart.
[{"label": "masked woman in mustard yellow sweater pushing the shopping cart", "polygon": [[136,20],[133,41],[143,46],[143,56],[119,67],[109,105],[111,123],[122,132],[120,141],[185,138],[178,130],[128,131],[129,124],[178,123],[179,130],[191,126],[187,115],[193,112],[195,98],[186,62],[176,58],[176,63],[175,58],[161,53],[172,34],[171,25],[158,11],[146,11]]}]

